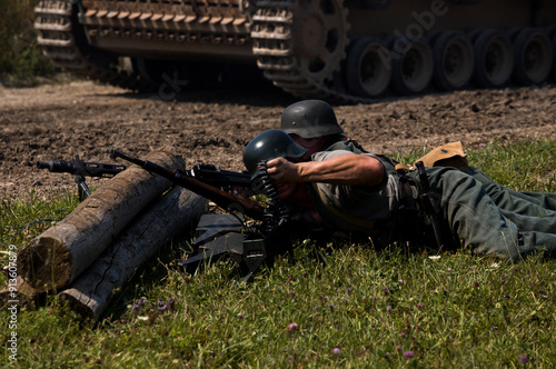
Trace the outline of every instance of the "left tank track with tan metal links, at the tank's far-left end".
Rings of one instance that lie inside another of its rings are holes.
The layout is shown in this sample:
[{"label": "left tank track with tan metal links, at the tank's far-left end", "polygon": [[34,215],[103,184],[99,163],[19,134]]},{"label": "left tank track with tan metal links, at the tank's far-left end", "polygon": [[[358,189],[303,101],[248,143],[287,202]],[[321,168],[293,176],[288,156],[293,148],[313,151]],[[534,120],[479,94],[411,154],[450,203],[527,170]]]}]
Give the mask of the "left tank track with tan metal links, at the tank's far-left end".
[{"label": "left tank track with tan metal links, at the tank's far-left end", "polygon": [[78,42],[77,9],[69,0],[42,0],[34,8],[38,42],[53,66],[73,76],[130,90],[153,90],[139,73],[118,70],[118,58]]}]

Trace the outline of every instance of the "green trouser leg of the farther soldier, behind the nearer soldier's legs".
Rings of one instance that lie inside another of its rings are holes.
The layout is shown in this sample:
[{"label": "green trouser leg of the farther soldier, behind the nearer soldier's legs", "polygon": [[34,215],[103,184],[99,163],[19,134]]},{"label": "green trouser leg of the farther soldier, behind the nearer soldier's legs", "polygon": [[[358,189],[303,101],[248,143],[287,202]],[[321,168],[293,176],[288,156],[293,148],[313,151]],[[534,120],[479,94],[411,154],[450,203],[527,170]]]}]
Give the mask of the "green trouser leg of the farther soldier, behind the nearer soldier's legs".
[{"label": "green trouser leg of the farther soldier, behind the nearer soldier's legs", "polygon": [[469,167],[467,173],[483,184],[490,199],[502,209],[530,217],[556,216],[556,193],[514,191],[474,167]]}]

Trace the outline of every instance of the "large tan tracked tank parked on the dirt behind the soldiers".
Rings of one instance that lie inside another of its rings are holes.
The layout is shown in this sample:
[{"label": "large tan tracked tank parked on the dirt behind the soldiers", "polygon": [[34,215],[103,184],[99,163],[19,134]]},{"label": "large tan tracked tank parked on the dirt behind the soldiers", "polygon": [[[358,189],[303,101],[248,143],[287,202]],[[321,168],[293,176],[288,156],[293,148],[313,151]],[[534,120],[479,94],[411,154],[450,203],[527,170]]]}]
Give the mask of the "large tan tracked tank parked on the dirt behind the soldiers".
[{"label": "large tan tracked tank parked on the dirt behind the soldiers", "polygon": [[552,0],[43,0],[36,14],[56,67],[131,90],[264,76],[374,101],[556,79]]}]

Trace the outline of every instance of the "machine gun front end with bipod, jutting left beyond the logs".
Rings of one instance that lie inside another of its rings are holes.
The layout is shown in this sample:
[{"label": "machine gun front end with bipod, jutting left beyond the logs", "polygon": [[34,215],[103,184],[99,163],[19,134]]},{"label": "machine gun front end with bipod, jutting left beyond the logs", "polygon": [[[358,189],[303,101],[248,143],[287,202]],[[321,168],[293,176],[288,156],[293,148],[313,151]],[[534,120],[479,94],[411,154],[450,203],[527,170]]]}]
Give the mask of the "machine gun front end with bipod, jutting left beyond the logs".
[{"label": "machine gun front end with bipod, jutting left beyond the logs", "polygon": [[76,160],[50,160],[38,161],[37,168],[48,169],[53,173],[70,173],[75,176],[79,200],[82,201],[91,195],[86,182],[86,177],[111,178],[126,169],[126,166],[106,164],[100,162],[88,162],[79,159]]}]

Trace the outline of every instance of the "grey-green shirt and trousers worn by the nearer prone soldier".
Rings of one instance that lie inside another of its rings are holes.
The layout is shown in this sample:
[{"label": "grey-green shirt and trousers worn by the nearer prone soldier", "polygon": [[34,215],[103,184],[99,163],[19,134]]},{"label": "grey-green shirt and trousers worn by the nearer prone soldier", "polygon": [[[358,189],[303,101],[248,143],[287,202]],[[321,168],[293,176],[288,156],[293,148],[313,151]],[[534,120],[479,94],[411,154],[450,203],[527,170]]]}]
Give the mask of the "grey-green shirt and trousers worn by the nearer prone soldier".
[{"label": "grey-green shirt and trousers worn by the nearer prone soldier", "polygon": [[[321,151],[314,161],[353,153],[346,150]],[[395,221],[400,203],[398,180],[389,172],[390,163],[380,157],[385,179],[373,188],[309,183],[311,200],[325,223],[344,231],[373,232],[373,222]],[[426,168],[430,187],[441,196],[441,216],[451,233],[463,246],[476,253],[496,255],[516,259],[528,252],[546,249],[556,257],[556,229],[543,222],[544,218],[527,217],[502,211],[490,199],[480,182],[455,168]],[[418,179],[417,172],[408,176]],[[325,199],[325,201],[322,200]],[[339,216],[342,213],[344,216]],[[360,221],[354,222],[357,218]]]}]

